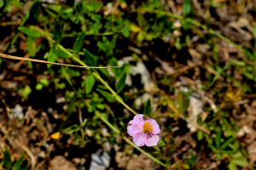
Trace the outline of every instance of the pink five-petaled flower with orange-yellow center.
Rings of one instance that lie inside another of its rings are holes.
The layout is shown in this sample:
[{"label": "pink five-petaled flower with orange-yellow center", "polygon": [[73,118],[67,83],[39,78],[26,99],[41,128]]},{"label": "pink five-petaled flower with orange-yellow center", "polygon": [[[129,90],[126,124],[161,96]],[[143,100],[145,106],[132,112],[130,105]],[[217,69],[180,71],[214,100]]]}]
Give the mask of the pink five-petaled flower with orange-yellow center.
[{"label": "pink five-petaled flower with orange-yellow center", "polygon": [[128,124],[127,131],[133,137],[133,142],[137,146],[157,145],[159,141],[160,127],[158,123],[152,118],[143,118],[143,114],[138,114],[133,117]]}]

